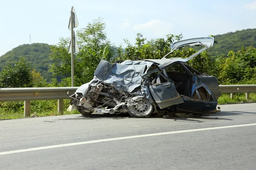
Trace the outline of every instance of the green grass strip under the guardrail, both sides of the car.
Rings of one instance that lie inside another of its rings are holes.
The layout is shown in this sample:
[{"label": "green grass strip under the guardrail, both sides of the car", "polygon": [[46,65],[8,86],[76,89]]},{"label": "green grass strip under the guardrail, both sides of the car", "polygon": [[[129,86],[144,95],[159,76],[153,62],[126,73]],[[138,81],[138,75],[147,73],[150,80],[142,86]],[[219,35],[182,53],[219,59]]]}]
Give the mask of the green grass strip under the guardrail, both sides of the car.
[{"label": "green grass strip under the guardrail, both sides of the car", "polygon": [[[64,112],[58,113],[57,100],[31,101],[31,115],[37,113],[42,116],[58,116],[67,114],[79,114],[78,111],[67,111],[69,99],[64,99]],[[230,94],[222,94],[218,99],[219,105],[231,103],[256,102],[256,93],[250,93],[249,100],[245,99],[245,94],[235,94],[234,99],[230,99]],[[0,120],[24,118],[24,102],[0,102]]]}]

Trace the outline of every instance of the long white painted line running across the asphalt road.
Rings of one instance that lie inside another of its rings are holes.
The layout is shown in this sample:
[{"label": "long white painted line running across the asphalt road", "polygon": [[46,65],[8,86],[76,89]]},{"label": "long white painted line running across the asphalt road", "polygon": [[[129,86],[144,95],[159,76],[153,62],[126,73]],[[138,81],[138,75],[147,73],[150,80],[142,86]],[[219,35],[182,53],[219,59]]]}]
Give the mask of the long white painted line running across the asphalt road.
[{"label": "long white painted line running across the asphalt road", "polygon": [[142,138],[142,137],[148,137],[148,136],[169,135],[169,134],[175,134],[175,133],[196,132],[196,131],[203,131],[203,130],[215,130],[215,129],[225,129],[225,128],[231,128],[231,127],[244,127],[244,126],[255,126],[255,125],[256,125],[256,123],[244,124],[244,125],[221,126],[221,127],[208,127],[208,128],[201,128],[201,129],[179,130],[179,131],[173,131],[173,132],[151,133],[151,134],[145,134],[145,135],[125,136],[125,137],[110,138],[110,139],[100,139],[100,140],[76,142],[76,143],[69,143],[69,144],[57,144],[57,145],[52,145],[52,146],[34,147],[34,148],[29,148],[29,149],[0,152],[0,155],[29,152],[29,151],[33,151],[33,150],[52,149],[52,148],[57,148],[57,147],[75,146],[75,145],[80,145],[80,144],[91,144],[91,143],[99,143],[99,142],[117,141],[117,140],[123,140],[123,139]]}]

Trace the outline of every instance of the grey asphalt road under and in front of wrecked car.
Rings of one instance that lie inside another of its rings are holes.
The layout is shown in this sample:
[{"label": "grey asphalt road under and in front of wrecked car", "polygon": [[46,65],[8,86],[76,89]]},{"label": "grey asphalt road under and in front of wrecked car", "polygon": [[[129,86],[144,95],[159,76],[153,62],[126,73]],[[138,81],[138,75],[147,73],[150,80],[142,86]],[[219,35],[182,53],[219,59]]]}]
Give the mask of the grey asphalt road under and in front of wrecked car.
[{"label": "grey asphalt road under and in front of wrecked car", "polygon": [[255,170],[256,103],[200,118],[0,121],[0,170]]}]

